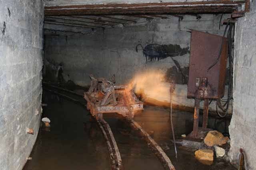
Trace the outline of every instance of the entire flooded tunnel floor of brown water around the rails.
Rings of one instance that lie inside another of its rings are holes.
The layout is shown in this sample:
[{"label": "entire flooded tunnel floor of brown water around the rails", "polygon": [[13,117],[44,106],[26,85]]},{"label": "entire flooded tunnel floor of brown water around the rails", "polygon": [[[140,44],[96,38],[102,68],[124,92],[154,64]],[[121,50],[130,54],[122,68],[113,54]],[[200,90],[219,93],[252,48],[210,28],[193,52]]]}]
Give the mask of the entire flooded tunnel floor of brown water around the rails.
[{"label": "entire flooded tunnel floor of brown water around the rails", "polygon": [[[76,99],[84,102],[77,96]],[[50,131],[44,126],[40,128],[30,155],[32,160],[28,160],[23,170],[111,169],[105,139],[85,107],[46,91],[43,93],[43,103],[48,105],[43,107],[42,117],[51,120]],[[131,129],[123,117],[108,113],[104,114],[104,119],[112,129],[125,170],[164,170],[146,141]],[[216,160],[216,157],[211,166],[204,165],[194,158],[194,151],[180,148],[176,160],[169,109],[145,106],[144,111],[136,114],[134,120],[164,149],[177,170],[235,169],[224,160]],[[174,110],[173,123],[177,138],[182,134],[187,135],[192,129],[193,114]],[[209,117],[208,127],[228,135],[229,123],[228,119]]]}]

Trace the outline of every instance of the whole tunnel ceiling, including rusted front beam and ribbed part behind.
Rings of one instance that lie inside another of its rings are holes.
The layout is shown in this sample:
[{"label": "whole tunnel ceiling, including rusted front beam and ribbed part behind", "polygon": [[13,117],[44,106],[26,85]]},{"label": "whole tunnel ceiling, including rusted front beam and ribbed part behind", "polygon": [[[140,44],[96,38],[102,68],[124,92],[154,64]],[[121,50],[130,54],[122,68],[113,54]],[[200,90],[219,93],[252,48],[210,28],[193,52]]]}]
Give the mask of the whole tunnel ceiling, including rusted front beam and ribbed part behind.
[{"label": "whole tunnel ceiling, including rusted front beam and ribbed part behind", "polygon": [[44,0],[45,33],[88,33],[138,20],[184,14],[232,13],[248,0]]}]

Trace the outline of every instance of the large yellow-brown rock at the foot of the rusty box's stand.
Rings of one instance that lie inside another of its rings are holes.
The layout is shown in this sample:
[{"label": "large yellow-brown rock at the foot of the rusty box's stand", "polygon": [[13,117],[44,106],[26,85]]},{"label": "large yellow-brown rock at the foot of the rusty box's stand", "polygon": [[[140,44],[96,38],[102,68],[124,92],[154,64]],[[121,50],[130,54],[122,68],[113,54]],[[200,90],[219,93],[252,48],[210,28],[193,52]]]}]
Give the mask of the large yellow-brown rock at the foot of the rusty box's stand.
[{"label": "large yellow-brown rock at the foot of the rusty box's stand", "polygon": [[229,140],[229,138],[224,137],[222,135],[222,133],[220,133],[218,131],[210,131],[207,133],[207,135],[204,139],[204,143],[207,146],[212,147],[214,145],[223,145],[223,144],[227,143],[228,140]]}]

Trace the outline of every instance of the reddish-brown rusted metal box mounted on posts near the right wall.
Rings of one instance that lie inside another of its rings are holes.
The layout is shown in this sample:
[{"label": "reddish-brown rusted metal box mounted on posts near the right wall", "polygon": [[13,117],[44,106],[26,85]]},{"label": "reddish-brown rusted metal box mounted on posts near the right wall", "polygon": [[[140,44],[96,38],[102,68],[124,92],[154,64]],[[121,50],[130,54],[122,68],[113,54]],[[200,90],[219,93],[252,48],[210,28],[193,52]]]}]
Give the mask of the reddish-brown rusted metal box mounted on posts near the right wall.
[{"label": "reddish-brown rusted metal box mounted on posts near the right wall", "polygon": [[[196,78],[202,77],[208,78],[208,88],[210,88],[204,98],[217,99],[224,95],[228,46],[227,39],[224,38],[222,43],[222,38],[219,35],[192,30],[188,97],[195,97]],[[222,52],[218,59],[221,44]],[[212,66],[214,63],[216,64]],[[212,68],[209,69],[210,66]]]}]

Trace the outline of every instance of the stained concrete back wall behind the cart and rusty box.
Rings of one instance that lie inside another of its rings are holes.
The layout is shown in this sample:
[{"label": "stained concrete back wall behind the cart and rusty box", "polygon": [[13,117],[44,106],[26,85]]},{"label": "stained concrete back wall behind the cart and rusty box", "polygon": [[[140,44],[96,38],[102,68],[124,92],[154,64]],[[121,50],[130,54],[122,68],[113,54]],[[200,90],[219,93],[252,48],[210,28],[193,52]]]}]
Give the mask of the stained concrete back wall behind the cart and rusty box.
[{"label": "stained concrete back wall behind the cart and rusty box", "polygon": [[[174,66],[170,57],[146,63],[142,48],[138,47],[138,53],[135,51],[136,45],[140,43],[143,47],[153,43],[180,46],[185,52],[174,59],[181,67],[188,66],[189,29],[223,35],[225,27],[224,25],[219,29],[220,15],[200,16],[202,18],[197,19],[196,16],[187,15],[183,20],[175,16],[168,16],[169,19],[155,18],[152,21],[142,19],[133,25],[107,28],[104,31],[100,29],[89,35],[46,35],[44,78],[51,80],[52,75],[56,75],[56,72],[51,71],[54,65],[50,63],[55,63],[55,68],[58,63],[64,63],[66,80],[71,79],[81,86],[90,84],[90,73],[96,77],[109,78],[115,74],[117,83],[127,83],[137,72],[153,69],[166,74]],[[227,17],[229,15],[224,15],[224,18]],[[186,85],[177,86],[177,101],[174,104],[194,107],[194,100],[187,99],[186,90]],[[166,98],[161,100],[169,102],[168,93],[169,91],[166,92]],[[210,105],[210,111],[212,110],[215,110],[215,102]],[[230,113],[231,110],[232,107]]]}]

